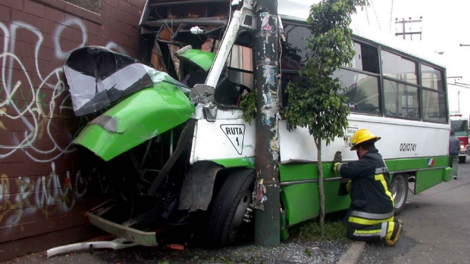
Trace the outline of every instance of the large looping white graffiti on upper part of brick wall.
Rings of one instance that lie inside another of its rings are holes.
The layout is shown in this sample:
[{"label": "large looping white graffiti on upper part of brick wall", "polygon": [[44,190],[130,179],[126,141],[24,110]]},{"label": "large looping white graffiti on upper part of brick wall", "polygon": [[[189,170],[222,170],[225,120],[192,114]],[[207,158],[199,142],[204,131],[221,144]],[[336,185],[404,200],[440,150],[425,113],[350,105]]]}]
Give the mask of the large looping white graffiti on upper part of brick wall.
[{"label": "large looping white graffiti on upper part of brick wall", "polygon": [[[69,51],[62,50],[60,40],[63,31],[75,26],[80,29],[82,43],[76,48],[84,46],[88,41],[87,29],[80,19],[70,19],[62,23],[53,35],[54,51],[57,61],[63,62]],[[21,151],[36,162],[50,162],[63,154],[73,151],[70,141],[61,145],[51,134],[54,114],[61,114],[64,110],[71,110],[70,98],[63,80],[63,69],[59,66],[51,72],[42,72],[39,66],[39,57],[44,37],[34,25],[24,22],[12,22],[9,28],[0,22],[3,31],[3,50],[0,54],[1,86],[0,86],[0,115],[12,120],[21,120],[24,125],[23,133],[12,134],[9,145],[0,145],[0,159],[15,152]],[[34,44],[34,68],[26,68],[19,56],[16,55],[17,32],[27,30],[36,37]],[[118,49],[118,44],[109,42],[106,47]],[[20,68],[20,72],[18,72]],[[22,74],[19,79],[15,75]],[[32,76],[39,78],[39,85],[34,86]],[[28,118],[30,117],[30,118]],[[0,121],[0,130],[8,130],[7,122]],[[47,149],[35,146],[41,137],[48,137],[52,144]],[[71,136],[70,136],[71,139]],[[47,156],[47,158],[44,158]]]}]

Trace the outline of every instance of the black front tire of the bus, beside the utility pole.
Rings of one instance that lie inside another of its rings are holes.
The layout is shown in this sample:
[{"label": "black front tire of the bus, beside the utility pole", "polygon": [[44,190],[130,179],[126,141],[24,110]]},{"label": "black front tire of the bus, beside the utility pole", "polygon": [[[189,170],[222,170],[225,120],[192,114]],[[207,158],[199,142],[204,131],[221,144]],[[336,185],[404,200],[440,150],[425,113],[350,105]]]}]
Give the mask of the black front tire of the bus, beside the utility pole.
[{"label": "black front tire of the bus, beside the utility pole", "polygon": [[237,241],[243,232],[253,233],[254,218],[245,223],[243,215],[250,206],[254,182],[253,170],[239,170],[227,176],[211,204],[206,229],[209,246],[224,246]]}]

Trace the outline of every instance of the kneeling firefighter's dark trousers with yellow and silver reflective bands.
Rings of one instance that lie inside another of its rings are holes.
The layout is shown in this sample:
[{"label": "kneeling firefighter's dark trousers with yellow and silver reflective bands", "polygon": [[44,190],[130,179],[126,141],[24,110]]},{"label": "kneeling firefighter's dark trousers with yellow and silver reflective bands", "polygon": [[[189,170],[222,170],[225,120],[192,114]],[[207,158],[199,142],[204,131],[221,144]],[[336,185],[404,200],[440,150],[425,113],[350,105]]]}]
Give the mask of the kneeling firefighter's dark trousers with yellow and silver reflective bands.
[{"label": "kneeling firefighter's dark trousers with yellow and silver reflective bands", "polygon": [[355,241],[393,241],[399,231],[398,221],[381,222],[374,225],[348,225],[346,236]]}]

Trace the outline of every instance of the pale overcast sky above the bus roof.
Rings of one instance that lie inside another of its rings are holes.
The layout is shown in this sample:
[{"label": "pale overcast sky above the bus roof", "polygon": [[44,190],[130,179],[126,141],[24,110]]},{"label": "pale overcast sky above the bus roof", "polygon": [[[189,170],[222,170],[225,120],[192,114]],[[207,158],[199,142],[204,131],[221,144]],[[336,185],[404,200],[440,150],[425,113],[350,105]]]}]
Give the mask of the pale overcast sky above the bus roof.
[{"label": "pale overcast sky above the bus roof", "polygon": [[[278,0],[279,13],[306,18],[309,6],[318,0]],[[379,39],[380,42],[407,50],[447,67],[447,76],[462,76],[459,79],[448,78],[449,109],[459,110],[467,117],[470,115],[470,88],[450,84],[454,82],[470,84],[470,0],[369,0],[370,5],[358,10],[352,18],[354,32]],[[393,3],[393,5],[392,5]],[[402,25],[395,19],[419,20],[421,23],[406,23],[406,32],[422,31],[419,35],[396,37],[402,32]],[[411,27],[411,28],[410,28]],[[442,55],[436,52],[444,52]],[[460,95],[458,96],[458,91]]]}]

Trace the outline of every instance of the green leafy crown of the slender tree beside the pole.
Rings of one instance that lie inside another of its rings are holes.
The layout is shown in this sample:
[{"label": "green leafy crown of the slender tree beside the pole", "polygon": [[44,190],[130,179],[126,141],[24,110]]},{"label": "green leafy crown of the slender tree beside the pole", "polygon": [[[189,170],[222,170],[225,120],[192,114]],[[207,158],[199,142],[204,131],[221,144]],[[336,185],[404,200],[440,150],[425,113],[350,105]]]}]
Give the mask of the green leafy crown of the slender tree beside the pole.
[{"label": "green leafy crown of the slender tree beside the pole", "polygon": [[287,128],[307,127],[315,139],[327,145],[334,137],[343,137],[348,126],[349,108],[345,91],[337,78],[330,76],[354,57],[351,15],[366,0],[322,0],[311,6],[307,22],[312,35],[307,38],[308,59],[300,74],[308,77],[308,86],[289,83],[288,106],[283,111]]}]

